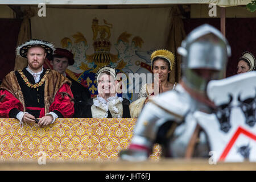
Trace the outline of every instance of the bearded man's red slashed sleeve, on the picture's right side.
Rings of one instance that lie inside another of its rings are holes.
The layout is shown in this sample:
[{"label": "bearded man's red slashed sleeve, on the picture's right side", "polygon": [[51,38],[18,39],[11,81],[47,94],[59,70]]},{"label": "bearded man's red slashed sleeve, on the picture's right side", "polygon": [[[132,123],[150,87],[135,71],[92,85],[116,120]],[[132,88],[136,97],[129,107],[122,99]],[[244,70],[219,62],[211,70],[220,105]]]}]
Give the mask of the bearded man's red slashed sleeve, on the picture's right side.
[{"label": "bearded man's red slashed sleeve, on the picture's right side", "polygon": [[68,84],[63,84],[56,93],[54,101],[49,106],[49,111],[53,111],[59,118],[71,118],[74,114],[74,101],[71,88]]}]

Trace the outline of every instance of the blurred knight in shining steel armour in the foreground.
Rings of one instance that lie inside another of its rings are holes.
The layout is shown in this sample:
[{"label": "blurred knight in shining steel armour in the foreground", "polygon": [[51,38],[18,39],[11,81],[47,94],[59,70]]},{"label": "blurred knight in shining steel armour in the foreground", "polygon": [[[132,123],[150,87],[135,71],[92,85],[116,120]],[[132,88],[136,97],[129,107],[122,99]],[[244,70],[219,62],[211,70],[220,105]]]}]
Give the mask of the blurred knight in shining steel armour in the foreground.
[{"label": "blurred knight in shining steel armour in the foreground", "polygon": [[199,142],[191,143],[200,128],[193,113],[212,113],[215,105],[207,97],[207,85],[210,80],[224,77],[231,49],[220,31],[204,24],[193,30],[177,51],[183,59],[180,83],[144,106],[129,148],[119,153],[121,159],[146,160],[155,143],[162,146],[164,157],[208,156],[209,145],[203,131],[196,136]]}]

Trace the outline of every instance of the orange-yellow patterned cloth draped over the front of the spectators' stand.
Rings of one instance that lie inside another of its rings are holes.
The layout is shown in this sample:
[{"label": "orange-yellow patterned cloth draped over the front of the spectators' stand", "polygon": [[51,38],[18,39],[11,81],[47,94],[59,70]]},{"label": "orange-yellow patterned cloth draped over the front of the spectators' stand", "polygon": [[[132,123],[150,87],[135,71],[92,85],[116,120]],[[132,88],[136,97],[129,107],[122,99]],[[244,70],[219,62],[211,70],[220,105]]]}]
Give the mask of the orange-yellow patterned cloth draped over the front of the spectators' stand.
[{"label": "orange-yellow patterned cloth draped over the front of the spectators' stand", "polygon": [[[59,118],[47,127],[0,119],[0,160],[118,160],[136,119]],[[160,147],[150,156],[158,160]]]}]

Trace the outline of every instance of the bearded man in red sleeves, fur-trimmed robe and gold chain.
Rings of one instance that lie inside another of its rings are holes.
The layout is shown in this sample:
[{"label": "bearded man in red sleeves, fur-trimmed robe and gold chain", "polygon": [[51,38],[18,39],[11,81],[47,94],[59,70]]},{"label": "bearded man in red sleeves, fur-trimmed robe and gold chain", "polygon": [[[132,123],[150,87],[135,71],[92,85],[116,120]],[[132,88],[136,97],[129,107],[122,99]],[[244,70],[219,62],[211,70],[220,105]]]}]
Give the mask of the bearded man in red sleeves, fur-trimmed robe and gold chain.
[{"label": "bearded man in red sleeves, fur-trimmed robe and gold chain", "polygon": [[[0,117],[47,126],[56,118],[74,114],[71,81],[59,72],[44,69],[53,44],[32,39],[16,48],[17,55],[28,59],[28,67],[10,72],[0,86]],[[40,119],[37,119],[40,118]]]}]

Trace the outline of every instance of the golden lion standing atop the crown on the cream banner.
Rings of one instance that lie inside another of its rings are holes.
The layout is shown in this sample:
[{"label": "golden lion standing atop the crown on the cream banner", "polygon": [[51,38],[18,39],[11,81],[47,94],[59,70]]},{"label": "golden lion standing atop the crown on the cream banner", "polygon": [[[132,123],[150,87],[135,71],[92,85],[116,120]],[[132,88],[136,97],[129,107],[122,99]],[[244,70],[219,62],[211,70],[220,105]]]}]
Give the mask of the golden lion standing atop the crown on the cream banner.
[{"label": "golden lion standing atop the crown on the cream banner", "polygon": [[93,40],[96,40],[98,32],[106,32],[108,34],[108,37],[106,39],[109,39],[111,34],[110,34],[110,28],[112,28],[112,24],[106,22],[106,20],[104,19],[104,23],[108,24],[109,26],[106,25],[98,25],[98,19],[95,18],[93,19],[92,22],[92,31],[93,31]]}]

